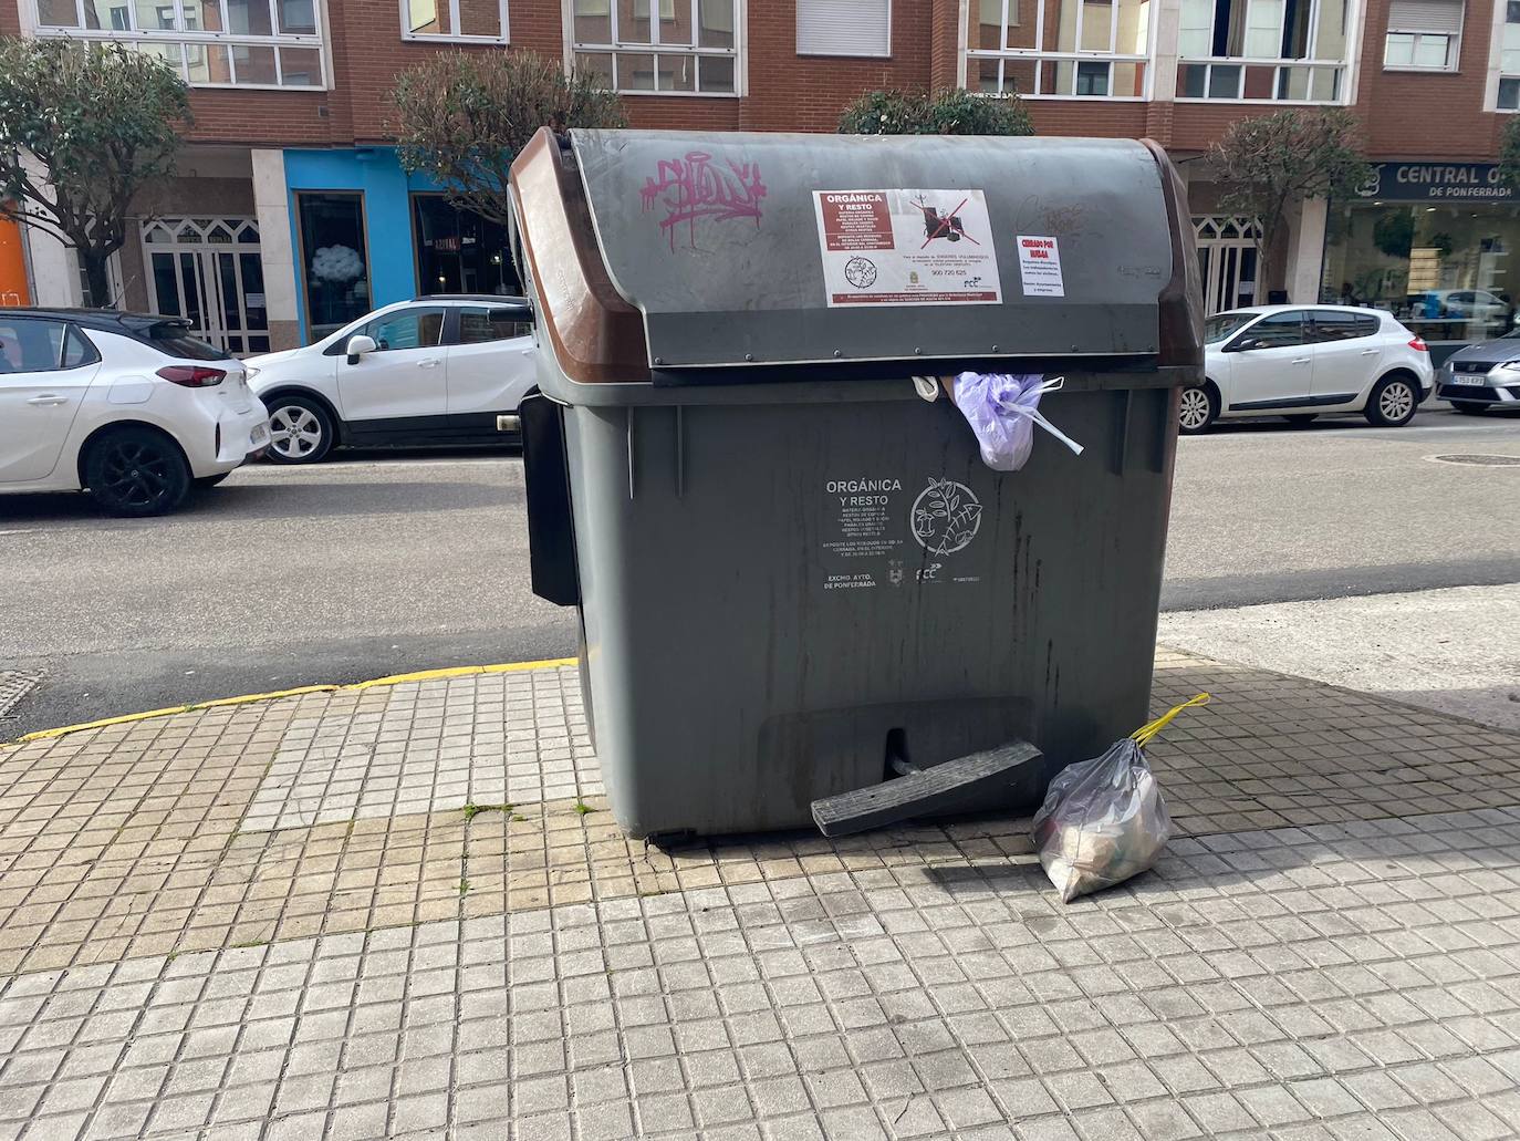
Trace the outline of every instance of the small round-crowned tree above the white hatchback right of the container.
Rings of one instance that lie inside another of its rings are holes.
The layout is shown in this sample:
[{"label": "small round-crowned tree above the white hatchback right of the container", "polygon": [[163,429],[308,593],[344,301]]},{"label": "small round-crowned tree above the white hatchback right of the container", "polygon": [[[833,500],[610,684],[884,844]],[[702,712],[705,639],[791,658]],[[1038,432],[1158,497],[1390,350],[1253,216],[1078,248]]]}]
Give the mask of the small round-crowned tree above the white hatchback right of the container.
[{"label": "small round-crowned tree above the white hatchback right of the container", "polygon": [[1287,208],[1306,198],[1344,198],[1373,176],[1362,157],[1362,125],[1350,111],[1278,111],[1237,119],[1208,151],[1219,207],[1260,222],[1265,262]]}]

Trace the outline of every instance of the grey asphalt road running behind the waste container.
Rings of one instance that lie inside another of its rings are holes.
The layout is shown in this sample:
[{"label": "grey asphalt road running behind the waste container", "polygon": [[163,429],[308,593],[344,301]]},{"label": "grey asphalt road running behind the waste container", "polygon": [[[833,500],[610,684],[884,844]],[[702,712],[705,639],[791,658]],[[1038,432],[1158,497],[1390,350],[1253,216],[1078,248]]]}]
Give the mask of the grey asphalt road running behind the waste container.
[{"label": "grey asphalt road running behind the waste container", "polygon": [[[1178,446],[1167,610],[1520,581],[1520,418],[1228,426]],[[0,497],[0,739],[167,704],[575,651],[527,587],[521,462],[257,466],[166,519]]]}]

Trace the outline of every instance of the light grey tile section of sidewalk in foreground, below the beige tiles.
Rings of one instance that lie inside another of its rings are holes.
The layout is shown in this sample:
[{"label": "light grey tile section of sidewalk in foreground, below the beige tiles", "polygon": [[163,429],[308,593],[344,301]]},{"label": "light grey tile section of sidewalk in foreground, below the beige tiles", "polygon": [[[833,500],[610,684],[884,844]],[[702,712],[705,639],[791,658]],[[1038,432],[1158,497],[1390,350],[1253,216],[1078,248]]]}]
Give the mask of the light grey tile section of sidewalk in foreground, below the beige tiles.
[{"label": "light grey tile section of sidewalk in foreground, below the beige tiles", "polygon": [[1066,908],[990,858],[26,974],[0,1041],[0,1133],[50,1141],[1512,1136],[1520,811],[1190,840]]}]

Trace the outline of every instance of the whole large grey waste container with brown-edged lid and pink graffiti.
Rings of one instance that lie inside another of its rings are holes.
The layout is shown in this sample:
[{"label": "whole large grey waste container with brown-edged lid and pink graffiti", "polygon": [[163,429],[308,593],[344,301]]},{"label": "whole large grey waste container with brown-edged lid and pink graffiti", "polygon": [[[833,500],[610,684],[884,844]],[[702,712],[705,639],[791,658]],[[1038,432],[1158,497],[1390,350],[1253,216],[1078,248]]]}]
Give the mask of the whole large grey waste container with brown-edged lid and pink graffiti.
[{"label": "whole large grey waste container with brown-edged lid and pink graffiti", "polygon": [[[1146,720],[1202,365],[1160,148],[541,131],[512,199],[534,589],[581,607],[629,834],[803,826],[892,755],[1053,770]],[[912,382],[962,370],[1064,376],[1041,411],[1085,453],[986,469]]]}]

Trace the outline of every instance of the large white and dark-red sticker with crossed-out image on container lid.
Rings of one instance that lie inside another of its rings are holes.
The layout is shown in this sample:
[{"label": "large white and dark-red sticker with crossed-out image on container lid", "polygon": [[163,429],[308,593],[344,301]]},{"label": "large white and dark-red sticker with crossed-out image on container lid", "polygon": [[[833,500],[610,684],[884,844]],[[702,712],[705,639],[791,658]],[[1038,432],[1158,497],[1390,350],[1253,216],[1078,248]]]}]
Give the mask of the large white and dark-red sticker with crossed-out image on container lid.
[{"label": "large white and dark-red sticker with crossed-out image on container lid", "polygon": [[999,304],[980,190],[815,190],[830,307]]}]

